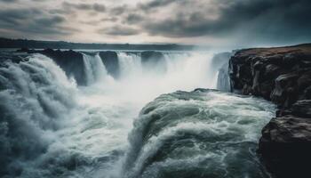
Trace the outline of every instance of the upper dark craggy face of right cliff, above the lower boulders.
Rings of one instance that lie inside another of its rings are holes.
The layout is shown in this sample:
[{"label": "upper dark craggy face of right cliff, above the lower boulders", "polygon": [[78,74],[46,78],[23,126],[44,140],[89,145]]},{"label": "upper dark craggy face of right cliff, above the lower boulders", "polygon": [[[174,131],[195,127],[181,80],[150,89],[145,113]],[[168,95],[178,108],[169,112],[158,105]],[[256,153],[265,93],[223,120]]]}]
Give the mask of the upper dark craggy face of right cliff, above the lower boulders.
[{"label": "upper dark craggy face of right cliff, above the lower boulders", "polygon": [[238,51],[229,61],[232,91],[261,96],[282,107],[305,99],[304,93],[311,85],[311,52],[307,47],[311,48],[307,45]]}]

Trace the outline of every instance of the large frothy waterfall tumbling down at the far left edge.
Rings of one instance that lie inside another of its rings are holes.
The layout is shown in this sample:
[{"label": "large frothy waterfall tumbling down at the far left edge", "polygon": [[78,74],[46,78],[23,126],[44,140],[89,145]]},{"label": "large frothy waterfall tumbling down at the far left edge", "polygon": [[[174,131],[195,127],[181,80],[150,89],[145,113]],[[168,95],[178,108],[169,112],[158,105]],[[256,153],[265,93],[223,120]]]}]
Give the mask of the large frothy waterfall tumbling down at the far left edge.
[{"label": "large frothy waterfall tumbling down at the far left edge", "polygon": [[36,160],[59,140],[56,132],[76,108],[77,89],[59,66],[40,54],[0,66],[0,176],[18,177],[36,164],[44,166]]}]

